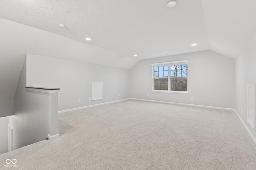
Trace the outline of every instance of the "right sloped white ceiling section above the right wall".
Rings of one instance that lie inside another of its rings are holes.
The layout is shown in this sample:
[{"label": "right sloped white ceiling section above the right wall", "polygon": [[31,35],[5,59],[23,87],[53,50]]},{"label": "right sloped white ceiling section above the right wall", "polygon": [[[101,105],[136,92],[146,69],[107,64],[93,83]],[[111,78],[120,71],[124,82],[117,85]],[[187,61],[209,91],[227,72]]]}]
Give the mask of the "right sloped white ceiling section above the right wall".
[{"label": "right sloped white ceiling section above the right wall", "polygon": [[235,58],[256,31],[256,0],[202,0],[209,49]]}]

